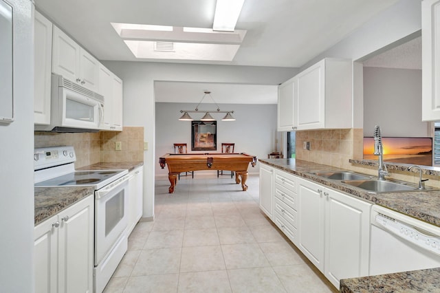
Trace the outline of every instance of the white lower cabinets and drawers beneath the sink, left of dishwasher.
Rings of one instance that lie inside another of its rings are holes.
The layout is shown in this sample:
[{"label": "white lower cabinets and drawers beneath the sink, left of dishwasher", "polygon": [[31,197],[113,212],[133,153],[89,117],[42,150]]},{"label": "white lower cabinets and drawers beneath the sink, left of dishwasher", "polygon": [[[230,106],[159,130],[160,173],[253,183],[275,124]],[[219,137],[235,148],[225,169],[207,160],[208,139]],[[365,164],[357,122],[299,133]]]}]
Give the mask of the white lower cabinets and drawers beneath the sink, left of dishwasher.
[{"label": "white lower cabinets and drawers beneath the sink, left of dishwasher", "polygon": [[335,287],[368,275],[372,204],[276,168],[273,194],[272,221]]}]

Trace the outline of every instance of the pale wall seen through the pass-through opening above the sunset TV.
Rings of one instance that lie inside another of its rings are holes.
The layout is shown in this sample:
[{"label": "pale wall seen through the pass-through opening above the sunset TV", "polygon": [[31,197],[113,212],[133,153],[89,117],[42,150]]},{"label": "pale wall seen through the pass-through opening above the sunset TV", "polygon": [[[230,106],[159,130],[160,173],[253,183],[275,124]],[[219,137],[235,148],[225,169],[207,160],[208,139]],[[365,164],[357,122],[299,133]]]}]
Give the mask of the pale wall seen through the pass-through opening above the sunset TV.
[{"label": "pale wall seen through the pass-through opening above the sunset TV", "polygon": [[364,67],[364,135],[426,137],[421,122],[421,70]]}]

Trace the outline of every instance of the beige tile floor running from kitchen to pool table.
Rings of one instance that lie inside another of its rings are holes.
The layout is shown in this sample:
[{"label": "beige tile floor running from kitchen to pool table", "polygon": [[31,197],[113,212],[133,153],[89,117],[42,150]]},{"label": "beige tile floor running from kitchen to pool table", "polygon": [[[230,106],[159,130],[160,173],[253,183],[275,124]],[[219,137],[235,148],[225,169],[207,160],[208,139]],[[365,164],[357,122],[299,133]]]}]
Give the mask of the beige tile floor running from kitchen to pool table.
[{"label": "beige tile floor running from kitchen to pool table", "polygon": [[104,292],[338,292],[228,176],[155,182],[155,221],[137,224]]}]

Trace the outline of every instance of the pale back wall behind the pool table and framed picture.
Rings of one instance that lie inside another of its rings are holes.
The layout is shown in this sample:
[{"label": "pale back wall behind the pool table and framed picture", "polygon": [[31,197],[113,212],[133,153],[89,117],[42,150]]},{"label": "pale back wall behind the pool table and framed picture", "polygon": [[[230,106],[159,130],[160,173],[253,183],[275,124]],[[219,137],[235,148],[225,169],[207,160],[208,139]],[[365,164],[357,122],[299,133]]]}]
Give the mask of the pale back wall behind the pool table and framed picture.
[{"label": "pale back wall behind the pool table and framed picture", "polygon": [[[213,104],[210,104],[213,106]],[[204,105],[203,105],[204,106]],[[217,152],[221,152],[222,142],[234,142],[235,153],[249,153],[259,158],[267,158],[274,151],[276,133],[276,105],[243,105],[219,104],[221,110],[234,110],[236,121],[221,121],[224,113],[212,113],[217,120]],[[165,153],[174,153],[173,143],[188,144],[188,153],[203,153],[206,151],[191,151],[191,122],[179,121],[181,109],[194,109],[195,104],[156,102],[156,149],[155,176],[164,179],[168,169],[160,169],[159,157]],[[203,109],[210,109],[205,107]],[[215,108],[212,108],[215,109]],[[203,113],[190,113],[192,118],[201,118]],[[215,151],[210,151],[215,152]],[[213,173],[214,171],[210,171]],[[249,166],[249,173],[259,173],[259,164],[254,168]],[[203,171],[197,171],[201,174]],[[206,173],[206,172],[204,172]]]}]

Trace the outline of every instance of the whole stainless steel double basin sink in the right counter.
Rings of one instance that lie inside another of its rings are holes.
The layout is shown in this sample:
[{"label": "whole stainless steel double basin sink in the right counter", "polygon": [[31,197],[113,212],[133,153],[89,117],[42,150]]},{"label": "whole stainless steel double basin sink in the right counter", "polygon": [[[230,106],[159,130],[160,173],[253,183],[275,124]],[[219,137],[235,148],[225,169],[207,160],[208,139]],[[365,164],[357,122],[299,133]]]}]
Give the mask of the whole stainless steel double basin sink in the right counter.
[{"label": "whole stainless steel double basin sink in the right counter", "polygon": [[[407,182],[397,181],[397,180],[377,180],[377,178],[373,176],[354,173],[350,171],[310,172],[310,173],[330,180],[338,180],[343,184],[348,184],[350,186],[358,187],[370,193],[420,191],[420,189],[417,186],[411,185]],[[432,188],[429,188],[429,190],[432,190]]]}]

